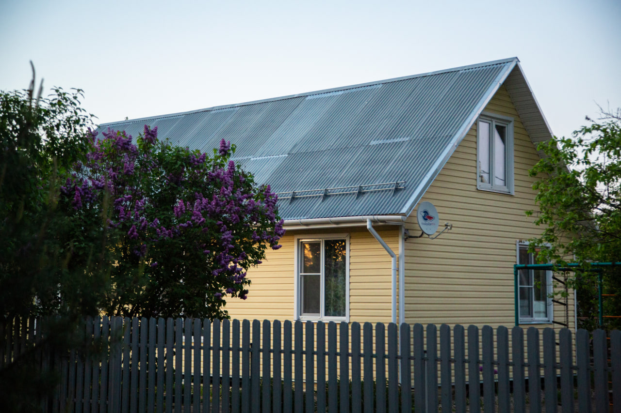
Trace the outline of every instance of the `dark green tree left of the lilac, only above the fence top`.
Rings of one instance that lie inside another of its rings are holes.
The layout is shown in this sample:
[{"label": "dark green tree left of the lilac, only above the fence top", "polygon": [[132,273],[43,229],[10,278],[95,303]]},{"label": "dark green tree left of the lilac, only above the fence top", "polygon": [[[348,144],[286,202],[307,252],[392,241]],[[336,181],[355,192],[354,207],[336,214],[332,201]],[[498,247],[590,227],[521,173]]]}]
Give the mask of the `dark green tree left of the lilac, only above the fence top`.
[{"label": "dark green tree left of the lilac, only above the fence top", "polygon": [[0,92],[0,313],[93,313],[88,297],[58,301],[59,286],[84,292],[84,270],[72,273],[58,238],[66,216],[57,207],[59,177],[89,148],[90,117],[79,107],[81,91],[57,88],[48,99],[35,99],[33,86]]}]

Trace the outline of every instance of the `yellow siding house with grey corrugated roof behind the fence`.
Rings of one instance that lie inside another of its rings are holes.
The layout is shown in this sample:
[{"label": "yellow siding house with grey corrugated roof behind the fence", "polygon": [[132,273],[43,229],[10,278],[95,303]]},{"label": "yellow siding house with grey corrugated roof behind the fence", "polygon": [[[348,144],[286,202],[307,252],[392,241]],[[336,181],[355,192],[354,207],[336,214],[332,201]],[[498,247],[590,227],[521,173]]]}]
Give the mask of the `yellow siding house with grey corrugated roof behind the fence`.
[{"label": "yellow siding house with grey corrugated roof behind the fence", "polygon": [[[279,194],[283,247],[248,273],[248,300],[227,302],[232,318],[511,326],[517,311],[522,326],[575,327],[550,272],[514,288],[513,265],[533,260],[523,240],[542,231],[524,213],[528,169],[552,136],[517,58],[101,128],[145,123],[192,149],[235,143]],[[422,202],[452,229],[419,238]]]}]

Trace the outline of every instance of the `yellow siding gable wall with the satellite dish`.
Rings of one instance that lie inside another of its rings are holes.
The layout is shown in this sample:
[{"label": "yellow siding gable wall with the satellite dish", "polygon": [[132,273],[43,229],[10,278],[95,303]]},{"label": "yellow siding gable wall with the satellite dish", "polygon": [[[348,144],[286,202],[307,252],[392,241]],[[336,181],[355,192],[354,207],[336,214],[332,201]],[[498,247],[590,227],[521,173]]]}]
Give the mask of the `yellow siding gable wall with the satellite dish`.
[{"label": "yellow siding gable wall with the satellite dish", "polygon": [[[449,221],[453,230],[406,241],[409,323],[514,325],[515,242],[542,231],[524,214],[535,208],[528,169],[539,158],[504,86],[485,110],[514,118],[515,195],[476,189],[475,123],[422,198],[437,208],[440,226]],[[420,233],[414,213],[406,228]],[[573,293],[569,305],[574,328]],[[554,311],[555,321],[564,322],[563,306],[555,304]]]}]

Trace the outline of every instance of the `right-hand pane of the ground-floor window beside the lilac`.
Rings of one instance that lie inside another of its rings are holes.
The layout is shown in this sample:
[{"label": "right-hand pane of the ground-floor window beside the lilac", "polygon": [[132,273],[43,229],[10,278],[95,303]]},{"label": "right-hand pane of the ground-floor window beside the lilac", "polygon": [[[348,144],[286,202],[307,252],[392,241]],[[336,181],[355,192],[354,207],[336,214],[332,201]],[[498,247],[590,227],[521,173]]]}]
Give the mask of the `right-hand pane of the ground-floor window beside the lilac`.
[{"label": "right-hand pane of the ground-floor window beside the lilac", "polygon": [[325,241],[325,316],[345,317],[345,240]]}]

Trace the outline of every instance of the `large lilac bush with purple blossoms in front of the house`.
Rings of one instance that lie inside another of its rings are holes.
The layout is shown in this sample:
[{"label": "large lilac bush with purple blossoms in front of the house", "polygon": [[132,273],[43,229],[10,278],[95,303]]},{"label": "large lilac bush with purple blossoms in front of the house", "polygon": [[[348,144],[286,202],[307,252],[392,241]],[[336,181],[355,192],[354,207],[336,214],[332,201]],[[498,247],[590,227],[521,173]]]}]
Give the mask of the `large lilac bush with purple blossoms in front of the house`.
[{"label": "large lilac bush with purple blossoms in front of the house", "polygon": [[91,135],[60,204],[109,239],[104,313],[225,318],[227,299],[247,298],[248,269],[280,247],[276,194],[255,185],[224,140],[207,156],[158,140],[147,125],[137,145],[125,131]]}]

